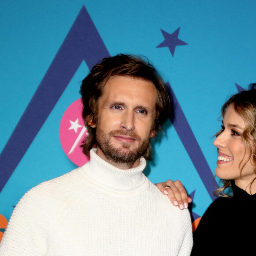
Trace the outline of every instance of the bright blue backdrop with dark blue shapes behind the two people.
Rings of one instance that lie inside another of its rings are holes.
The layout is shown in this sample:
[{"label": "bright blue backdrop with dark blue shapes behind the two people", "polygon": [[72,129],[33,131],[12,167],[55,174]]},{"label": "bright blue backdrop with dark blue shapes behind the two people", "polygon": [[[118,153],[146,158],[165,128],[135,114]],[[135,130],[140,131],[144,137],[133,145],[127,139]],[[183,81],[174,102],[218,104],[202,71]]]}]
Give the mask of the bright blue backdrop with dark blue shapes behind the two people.
[{"label": "bright blue backdrop with dark blue shapes behind the two people", "polygon": [[28,189],[80,165],[72,156],[86,131],[70,109],[90,68],[117,53],[147,56],[174,100],[145,173],[181,180],[193,218],[203,215],[214,200],[220,108],[255,82],[255,9],[238,0],[1,2],[0,234]]}]

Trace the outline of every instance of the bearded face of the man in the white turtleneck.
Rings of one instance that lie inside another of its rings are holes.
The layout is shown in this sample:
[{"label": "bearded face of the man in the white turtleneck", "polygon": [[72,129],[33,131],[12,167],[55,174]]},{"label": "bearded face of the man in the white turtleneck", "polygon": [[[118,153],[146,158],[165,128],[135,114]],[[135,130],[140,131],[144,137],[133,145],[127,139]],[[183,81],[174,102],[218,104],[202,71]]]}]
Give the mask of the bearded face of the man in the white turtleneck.
[{"label": "bearded face of the man in the white turtleneck", "polygon": [[98,100],[97,154],[121,169],[139,165],[154,136],[157,90],[154,84],[129,76],[113,76]]}]

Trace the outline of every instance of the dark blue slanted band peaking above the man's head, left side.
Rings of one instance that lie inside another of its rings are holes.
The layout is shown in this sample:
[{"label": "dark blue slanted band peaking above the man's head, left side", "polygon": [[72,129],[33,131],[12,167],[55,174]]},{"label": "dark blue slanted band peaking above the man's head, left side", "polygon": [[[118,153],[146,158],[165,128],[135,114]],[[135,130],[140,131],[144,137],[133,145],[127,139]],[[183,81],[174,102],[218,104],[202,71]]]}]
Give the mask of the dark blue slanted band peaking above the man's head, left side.
[{"label": "dark blue slanted band peaking above the man's head, left side", "polygon": [[0,154],[0,192],[82,61],[91,69],[105,56],[109,56],[109,52],[83,6]]}]

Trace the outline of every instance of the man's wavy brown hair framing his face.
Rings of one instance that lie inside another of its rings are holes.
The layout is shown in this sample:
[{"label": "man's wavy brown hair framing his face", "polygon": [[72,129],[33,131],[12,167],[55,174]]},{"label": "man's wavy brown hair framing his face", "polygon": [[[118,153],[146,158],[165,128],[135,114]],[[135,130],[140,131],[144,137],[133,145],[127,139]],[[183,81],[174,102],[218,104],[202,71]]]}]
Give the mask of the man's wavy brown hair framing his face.
[{"label": "man's wavy brown hair framing his face", "polygon": [[[102,95],[102,88],[113,75],[130,76],[136,79],[145,79],[154,83],[157,89],[156,117],[152,130],[156,133],[162,131],[162,124],[170,117],[171,101],[161,77],[156,69],[145,58],[135,55],[118,54],[113,57],[104,58],[100,63],[94,65],[90,73],[83,79],[80,94],[83,102],[83,120],[88,130],[88,136],[83,141],[83,153],[89,155],[91,148],[96,145],[96,128],[90,127],[88,123],[98,122],[98,99]],[[144,157],[151,160],[151,147],[148,148]]]}]

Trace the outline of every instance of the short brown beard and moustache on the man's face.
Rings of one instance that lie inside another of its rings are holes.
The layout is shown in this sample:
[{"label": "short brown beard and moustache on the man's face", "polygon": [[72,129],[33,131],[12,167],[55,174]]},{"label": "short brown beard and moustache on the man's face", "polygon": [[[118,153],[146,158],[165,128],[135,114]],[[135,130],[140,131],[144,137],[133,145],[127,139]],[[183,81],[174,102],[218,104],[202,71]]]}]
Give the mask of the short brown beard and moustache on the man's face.
[{"label": "short brown beard and moustache on the man's face", "polygon": [[[111,137],[117,135],[131,136],[132,138],[135,138],[139,142],[138,147],[129,150],[129,147],[132,147],[130,143],[123,143],[119,148],[114,147],[110,142],[110,139]],[[137,159],[145,154],[147,148],[149,147],[149,137],[142,141],[141,137],[132,131],[127,132],[113,130],[109,132],[109,134],[106,134],[102,131],[102,129],[96,128],[96,142],[97,147],[102,150],[105,157],[115,163],[133,164]]]}]

